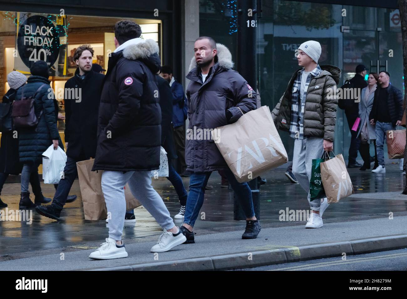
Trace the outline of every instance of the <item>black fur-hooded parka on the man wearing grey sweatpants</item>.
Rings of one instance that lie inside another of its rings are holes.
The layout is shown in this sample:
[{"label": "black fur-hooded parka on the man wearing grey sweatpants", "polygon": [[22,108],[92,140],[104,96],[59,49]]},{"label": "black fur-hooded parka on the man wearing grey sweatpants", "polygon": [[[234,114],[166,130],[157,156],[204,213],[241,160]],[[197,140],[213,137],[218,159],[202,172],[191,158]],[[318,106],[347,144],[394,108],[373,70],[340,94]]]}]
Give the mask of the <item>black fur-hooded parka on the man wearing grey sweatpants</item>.
[{"label": "black fur-hooded parka on the man wearing grey sweatpants", "polygon": [[160,166],[158,45],[151,39],[126,43],[109,58],[92,170],[148,171]]}]

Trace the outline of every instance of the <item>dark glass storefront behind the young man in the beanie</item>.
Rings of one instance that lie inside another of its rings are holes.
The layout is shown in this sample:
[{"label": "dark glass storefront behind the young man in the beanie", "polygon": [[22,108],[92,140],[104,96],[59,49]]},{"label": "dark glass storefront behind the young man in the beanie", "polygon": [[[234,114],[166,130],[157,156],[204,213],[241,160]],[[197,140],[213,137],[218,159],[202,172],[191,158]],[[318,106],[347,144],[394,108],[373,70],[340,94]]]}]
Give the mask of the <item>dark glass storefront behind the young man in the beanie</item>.
[{"label": "dark glass storefront behind the young man in the beanie", "polygon": [[[390,82],[404,93],[398,10],[282,0],[263,1],[262,10],[256,24],[255,66],[262,105],[272,109],[278,103],[298,69],[295,50],[310,39],[321,44],[319,65],[342,69],[339,87],[354,76],[358,64],[365,65],[368,73],[377,72],[379,61],[379,71],[387,67]],[[237,1],[200,0],[199,34],[225,44],[234,61],[236,21]],[[286,132],[280,136],[292,160],[294,139]],[[339,108],[334,145],[335,153],[343,153],[347,160],[350,132]]]}]

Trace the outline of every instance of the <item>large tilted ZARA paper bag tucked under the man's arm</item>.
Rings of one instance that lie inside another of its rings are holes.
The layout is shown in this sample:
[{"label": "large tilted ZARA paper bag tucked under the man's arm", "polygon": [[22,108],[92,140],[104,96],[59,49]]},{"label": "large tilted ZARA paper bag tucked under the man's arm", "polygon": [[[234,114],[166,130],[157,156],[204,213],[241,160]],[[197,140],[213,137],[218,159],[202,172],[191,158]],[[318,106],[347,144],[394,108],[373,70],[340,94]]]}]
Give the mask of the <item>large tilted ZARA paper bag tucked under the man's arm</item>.
[{"label": "large tilted ZARA paper bag tucked under the man's arm", "polygon": [[288,161],[267,106],[249,111],[234,124],[216,128],[212,138],[240,183]]}]

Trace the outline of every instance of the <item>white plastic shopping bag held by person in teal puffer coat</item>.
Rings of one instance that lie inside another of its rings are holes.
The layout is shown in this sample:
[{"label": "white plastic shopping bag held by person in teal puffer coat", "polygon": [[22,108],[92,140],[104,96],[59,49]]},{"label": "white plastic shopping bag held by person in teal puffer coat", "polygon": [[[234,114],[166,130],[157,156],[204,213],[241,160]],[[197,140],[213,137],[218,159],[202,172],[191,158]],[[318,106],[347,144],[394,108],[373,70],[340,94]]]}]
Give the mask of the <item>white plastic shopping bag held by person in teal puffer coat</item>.
[{"label": "white plastic shopping bag held by person in teal puffer coat", "polygon": [[54,145],[42,153],[42,178],[44,184],[58,184],[63,176],[63,169],[66,164],[66,154],[58,147],[54,150]]}]

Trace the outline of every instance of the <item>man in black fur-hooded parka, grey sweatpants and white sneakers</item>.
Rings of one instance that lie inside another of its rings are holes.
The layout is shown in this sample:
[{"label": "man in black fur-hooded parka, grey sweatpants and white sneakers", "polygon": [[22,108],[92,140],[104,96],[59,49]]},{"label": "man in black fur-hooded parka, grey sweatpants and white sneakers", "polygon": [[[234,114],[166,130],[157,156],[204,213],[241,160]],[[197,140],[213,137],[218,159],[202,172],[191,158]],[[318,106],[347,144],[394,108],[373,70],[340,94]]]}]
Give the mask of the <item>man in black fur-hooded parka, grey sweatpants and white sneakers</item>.
[{"label": "man in black fur-hooded parka, grey sweatpants and white sneakers", "polygon": [[117,22],[114,35],[116,50],[109,57],[103,82],[92,169],[103,170],[102,191],[111,219],[109,238],[90,254],[93,259],[127,257],[121,241],[126,183],[164,228],[151,252],[168,251],[186,240],[151,186],[151,170],[160,167],[161,110],[155,78],[160,70],[158,45],[151,39],[141,39],[140,26],[130,20]]}]

